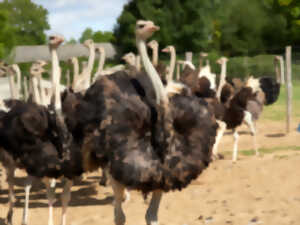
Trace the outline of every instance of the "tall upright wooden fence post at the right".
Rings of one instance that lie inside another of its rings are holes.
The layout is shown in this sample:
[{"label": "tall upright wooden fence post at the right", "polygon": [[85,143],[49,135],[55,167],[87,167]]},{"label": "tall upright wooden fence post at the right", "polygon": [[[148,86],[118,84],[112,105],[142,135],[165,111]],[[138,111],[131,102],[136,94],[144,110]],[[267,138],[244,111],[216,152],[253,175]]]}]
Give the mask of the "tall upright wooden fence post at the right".
[{"label": "tall upright wooden fence post at the right", "polygon": [[286,52],[286,132],[289,133],[292,122],[292,47],[287,46]]}]

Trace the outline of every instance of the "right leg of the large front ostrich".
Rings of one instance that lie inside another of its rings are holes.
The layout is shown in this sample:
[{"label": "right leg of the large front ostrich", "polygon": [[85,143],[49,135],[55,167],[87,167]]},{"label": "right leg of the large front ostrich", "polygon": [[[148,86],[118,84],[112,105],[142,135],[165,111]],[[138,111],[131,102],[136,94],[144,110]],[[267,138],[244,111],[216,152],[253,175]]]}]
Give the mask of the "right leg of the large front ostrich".
[{"label": "right leg of the large front ostrich", "polygon": [[161,197],[162,197],[162,191],[157,190],[153,192],[151,202],[146,213],[147,225],[158,225],[157,213],[158,213]]}]

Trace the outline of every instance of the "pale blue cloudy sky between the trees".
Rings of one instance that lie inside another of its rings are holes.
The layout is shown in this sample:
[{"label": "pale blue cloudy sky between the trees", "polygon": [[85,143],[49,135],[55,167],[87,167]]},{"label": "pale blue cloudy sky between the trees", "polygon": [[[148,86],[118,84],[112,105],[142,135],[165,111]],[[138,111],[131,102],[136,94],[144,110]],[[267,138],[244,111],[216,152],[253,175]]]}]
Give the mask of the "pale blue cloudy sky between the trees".
[{"label": "pale blue cloudy sky between the trees", "polygon": [[112,31],[123,6],[128,0],[32,0],[49,12],[51,30],[66,40],[79,39],[90,27],[94,31]]}]

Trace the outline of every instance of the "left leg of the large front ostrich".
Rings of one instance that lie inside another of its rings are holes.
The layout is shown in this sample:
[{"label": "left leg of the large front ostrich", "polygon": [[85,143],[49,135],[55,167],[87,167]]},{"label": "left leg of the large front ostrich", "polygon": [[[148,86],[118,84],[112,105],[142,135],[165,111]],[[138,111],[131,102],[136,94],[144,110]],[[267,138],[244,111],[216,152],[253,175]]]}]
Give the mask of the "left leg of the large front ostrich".
[{"label": "left leg of the large front ostrich", "polygon": [[126,218],[122,209],[122,202],[124,196],[125,187],[110,177],[111,186],[114,192],[114,207],[115,207],[115,224],[116,225],[124,225]]}]

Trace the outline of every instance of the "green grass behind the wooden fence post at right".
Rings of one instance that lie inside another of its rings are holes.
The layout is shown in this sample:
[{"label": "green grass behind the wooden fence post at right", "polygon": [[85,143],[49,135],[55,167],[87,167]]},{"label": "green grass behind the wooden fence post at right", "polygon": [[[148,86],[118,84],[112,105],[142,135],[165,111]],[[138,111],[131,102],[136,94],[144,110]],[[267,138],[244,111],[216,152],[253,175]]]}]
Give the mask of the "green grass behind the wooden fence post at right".
[{"label": "green grass behind the wooden fence post at right", "polygon": [[[300,118],[300,81],[293,81],[292,117]],[[280,96],[273,105],[266,106],[263,111],[263,118],[268,120],[283,121],[286,118],[286,89],[282,85]]]}]

